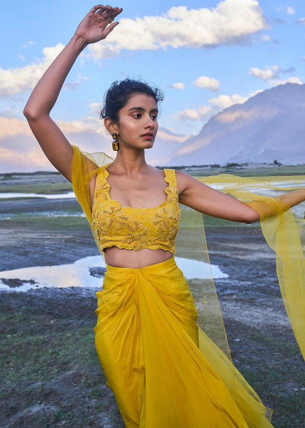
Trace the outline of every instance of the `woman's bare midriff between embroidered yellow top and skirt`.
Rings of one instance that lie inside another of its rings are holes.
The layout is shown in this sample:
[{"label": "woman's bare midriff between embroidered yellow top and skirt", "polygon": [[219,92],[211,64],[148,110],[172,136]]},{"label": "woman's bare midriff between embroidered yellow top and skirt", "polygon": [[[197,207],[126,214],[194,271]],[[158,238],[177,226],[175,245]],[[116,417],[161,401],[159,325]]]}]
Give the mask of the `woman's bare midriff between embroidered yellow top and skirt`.
[{"label": "woman's bare midriff between embroidered yellow top and skirt", "polygon": [[104,255],[107,265],[131,269],[140,269],[145,266],[155,265],[165,262],[172,257],[170,251],[161,249],[149,250],[148,248],[143,248],[142,250],[134,251],[117,247],[105,248]]}]

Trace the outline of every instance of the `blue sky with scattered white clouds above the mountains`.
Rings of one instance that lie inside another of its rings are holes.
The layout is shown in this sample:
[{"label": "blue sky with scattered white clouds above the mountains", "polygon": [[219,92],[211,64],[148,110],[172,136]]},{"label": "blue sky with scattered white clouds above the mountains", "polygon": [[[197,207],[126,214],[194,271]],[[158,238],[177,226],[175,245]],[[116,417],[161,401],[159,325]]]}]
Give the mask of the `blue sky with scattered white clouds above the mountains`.
[{"label": "blue sky with scattered white clouds above the mountains", "polygon": [[[2,3],[0,117],[23,120],[31,89],[92,6],[87,0]],[[191,135],[259,91],[305,82],[303,0],[121,0],[113,6],[123,8],[119,25],[76,60],[54,120],[95,129],[111,82],[140,75],[164,92],[159,126]]]}]

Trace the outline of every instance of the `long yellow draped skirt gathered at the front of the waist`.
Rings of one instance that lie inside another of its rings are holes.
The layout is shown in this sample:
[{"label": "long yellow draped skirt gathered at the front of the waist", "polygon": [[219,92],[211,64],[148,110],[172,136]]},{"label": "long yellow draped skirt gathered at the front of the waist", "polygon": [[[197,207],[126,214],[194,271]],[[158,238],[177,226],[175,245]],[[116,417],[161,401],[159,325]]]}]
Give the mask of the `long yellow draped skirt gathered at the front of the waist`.
[{"label": "long yellow draped skirt gathered at the front of the waist", "polygon": [[127,428],[267,428],[271,412],[196,325],[174,258],[107,266],[95,346]]}]

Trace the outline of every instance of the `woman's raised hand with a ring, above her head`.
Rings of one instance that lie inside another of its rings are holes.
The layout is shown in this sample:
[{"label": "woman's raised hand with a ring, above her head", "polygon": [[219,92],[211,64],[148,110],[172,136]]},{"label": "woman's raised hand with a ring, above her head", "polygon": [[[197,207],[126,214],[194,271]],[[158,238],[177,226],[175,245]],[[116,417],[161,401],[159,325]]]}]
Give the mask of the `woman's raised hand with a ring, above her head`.
[{"label": "woman's raised hand with a ring, above her head", "polygon": [[112,21],[122,10],[122,8],[102,4],[92,7],[79,23],[74,35],[83,39],[85,43],[95,43],[104,39],[118,24]]}]

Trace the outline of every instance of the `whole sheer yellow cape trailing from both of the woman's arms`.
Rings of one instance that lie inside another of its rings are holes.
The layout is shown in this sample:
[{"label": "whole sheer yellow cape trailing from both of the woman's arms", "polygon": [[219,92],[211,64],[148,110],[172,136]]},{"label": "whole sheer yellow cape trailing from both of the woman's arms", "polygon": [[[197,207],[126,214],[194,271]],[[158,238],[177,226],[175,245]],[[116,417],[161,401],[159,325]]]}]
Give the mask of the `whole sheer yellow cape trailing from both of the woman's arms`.
[{"label": "whole sheer yellow cape trailing from both of the woman's arms", "polygon": [[[79,148],[75,146],[73,146],[73,150],[73,190],[89,222],[95,242],[97,243],[97,237],[95,236],[92,226],[88,183],[90,179],[98,173],[99,167],[110,163],[113,159],[106,156],[104,153],[82,153]],[[266,242],[276,254],[277,277],[285,309],[299,348],[305,358],[305,269],[303,253],[305,233],[304,220],[301,216],[301,211],[304,208],[298,207],[297,212],[293,210],[293,213],[283,202],[267,195],[270,191],[275,195],[305,187],[305,176],[241,178],[224,174],[197,178],[221,192],[231,194],[259,212],[262,233]],[[255,203],[257,201],[261,201],[263,204],[258,206],[257,203]],[[186,216],[187,215],[188,213],[186,212]],[[197,238],[199,223],[202,233],[201,216],[200,221],[195,220],[193,223],[193,236]],[[188,228],[188,230],[184,230],[184,232],[189,234],[191,232],[190,229]],[[183,216],[181,230],[183,233]],[[198,252],[200,258],[208,262],[204,234],[201,235],[201,237],[203,239],[200,239],[200,246],[203,247],[203,249]],[[184,247],[183,252],[186,253],[185,257],[187,258],[187,248]],[[212,279],[209,283],[209,287],[210,289],[206,291],[203,296],[203,303],[207,305],[207,310],[205,308],[204,311],[205,316],[207,316],[207,321],[205,321],[205,323],[210,326],[213,324],[213,320],[216,317],[218,317],[219,320],[220,312]],[[196,289],[198,291],[199,288],[200,285],[198,283],[195,284],[195,294]],[[212,295],[214,297],[212,297]],[[198,299],[201,300],[201,297],[198,297]],[[196,299],[195,295],[195,302],[198,299]],[[200,320],[198,324],[200,324]],[[204,327],[203,330],[205,330]],[[226,339],[223,337],[222,328],[219,329],[215,327],[210,333],[208,332],[208,336],[228,354]]]}]

